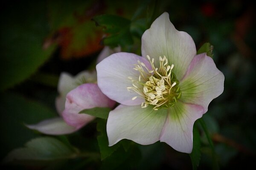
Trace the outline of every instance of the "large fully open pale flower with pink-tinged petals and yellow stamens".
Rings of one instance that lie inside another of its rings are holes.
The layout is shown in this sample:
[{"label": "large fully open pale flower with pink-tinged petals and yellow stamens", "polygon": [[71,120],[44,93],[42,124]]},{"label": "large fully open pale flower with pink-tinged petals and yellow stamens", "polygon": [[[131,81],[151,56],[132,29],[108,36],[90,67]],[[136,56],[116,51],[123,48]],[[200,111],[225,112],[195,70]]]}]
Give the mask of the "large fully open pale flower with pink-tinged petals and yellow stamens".
[{"label": "large fully open pale flower with pink-tinged petals and yellow stamens", "polygon": [[119,52],[96,66],[99,88],[120,103],[109,113],[109,146],[162,141],[191,153],[193,124],[224,90],[224,75],[163,13],[142,36],[142,57]]}]

